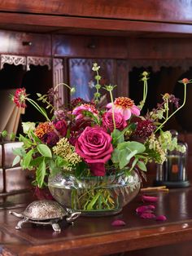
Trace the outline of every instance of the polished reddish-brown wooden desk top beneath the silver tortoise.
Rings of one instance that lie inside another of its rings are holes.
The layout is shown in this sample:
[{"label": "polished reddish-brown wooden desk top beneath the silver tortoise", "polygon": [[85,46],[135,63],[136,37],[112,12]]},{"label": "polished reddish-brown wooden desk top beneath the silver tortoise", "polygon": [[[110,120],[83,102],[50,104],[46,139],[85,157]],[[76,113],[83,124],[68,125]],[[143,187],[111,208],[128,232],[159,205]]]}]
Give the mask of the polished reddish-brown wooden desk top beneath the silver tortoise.
[{"label": "polished reddish-brown wooden desk top beneath the silver tortoise", "polygon": [[[136,208],[143,205],[139,194],[120,214],[80,217],[73,226],[66,227],[63,223],[60,233],[54,232],[49,225],[42,227],[31,223],[25,223],[22,229],[16,230],[19,219],[9,214],[9,210],[24,210],[33,201],[32,193],[2,197],[0,255],[107,255],[191,241],[192,188],[170,189],[153,195],[159,196],[155,214],[166,215],[168,219],[165,222],[143,219],[136,214]],[[11,205],[12,202],[15,205]],[[126,225],[111,226],[116,219],[124,220]]]}]

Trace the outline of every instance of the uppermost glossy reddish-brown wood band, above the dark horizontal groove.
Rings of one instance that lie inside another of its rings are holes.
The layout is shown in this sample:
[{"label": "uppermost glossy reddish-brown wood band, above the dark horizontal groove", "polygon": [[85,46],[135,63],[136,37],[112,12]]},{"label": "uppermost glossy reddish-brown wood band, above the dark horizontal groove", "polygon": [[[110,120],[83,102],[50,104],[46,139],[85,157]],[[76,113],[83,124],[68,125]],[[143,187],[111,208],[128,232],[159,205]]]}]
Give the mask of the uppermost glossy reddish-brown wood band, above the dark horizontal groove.
[{"label": "uppermost glossy reddish-brown wood band, above the dark horizontal groove", "polygon": [[21,0],[0,1],[1,11],[84,17],[191,23],[192,7],[185,0]]}]

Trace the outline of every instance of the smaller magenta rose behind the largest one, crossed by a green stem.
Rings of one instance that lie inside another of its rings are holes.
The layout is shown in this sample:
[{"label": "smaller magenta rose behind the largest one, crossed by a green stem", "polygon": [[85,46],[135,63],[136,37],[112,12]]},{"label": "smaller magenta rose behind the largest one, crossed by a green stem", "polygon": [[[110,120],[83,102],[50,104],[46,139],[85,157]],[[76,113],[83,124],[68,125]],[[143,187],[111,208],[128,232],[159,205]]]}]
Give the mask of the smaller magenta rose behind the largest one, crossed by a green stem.
[{"label": "smaller magenta rose behind the largest one, crossed by a green stem", "polygon": [[[127,122],[124,120],[124,116],[121,113],[114,113],[116,121],[116,129],[124,130],[124,127],[127,126]],[[103,114],[103,128],[105,130],[114,130],[114,124],[112,119],[112,113],[107,112]]]}]

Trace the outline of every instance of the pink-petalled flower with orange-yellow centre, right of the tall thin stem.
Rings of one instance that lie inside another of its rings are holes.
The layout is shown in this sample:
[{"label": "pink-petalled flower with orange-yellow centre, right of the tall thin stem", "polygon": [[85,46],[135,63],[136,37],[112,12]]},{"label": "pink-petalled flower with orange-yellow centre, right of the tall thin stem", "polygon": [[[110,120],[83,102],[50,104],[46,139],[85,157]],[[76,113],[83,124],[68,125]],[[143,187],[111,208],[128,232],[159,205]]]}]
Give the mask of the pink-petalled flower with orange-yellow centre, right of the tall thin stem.
[{"label": "pink-petalled flower with orange-yellow centre, right of the tall thin stem", "polygon": [[[112,103],[107,104],[107,108],[110,108],[109,112],[112,112]],[[121,113],[125,120],[128,120],[132,114],[136,116],[140,115],[140,109],[134,104],[132,99],[127,97],[116,98],[114,110]]]}]

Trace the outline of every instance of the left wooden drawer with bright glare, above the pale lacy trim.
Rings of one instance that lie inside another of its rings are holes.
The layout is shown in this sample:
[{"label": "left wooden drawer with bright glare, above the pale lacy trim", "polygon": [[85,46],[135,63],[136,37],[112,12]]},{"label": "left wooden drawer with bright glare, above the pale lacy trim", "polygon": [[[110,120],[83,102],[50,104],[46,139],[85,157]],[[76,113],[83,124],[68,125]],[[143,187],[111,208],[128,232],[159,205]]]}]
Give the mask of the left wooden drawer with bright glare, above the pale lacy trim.
[{"label": "left wooden drawer with bright glare, above the pale lacy trim", "polygon": [[0,30],[1,54],[51,55],[51,41],[48,34],[18,33]]}]

